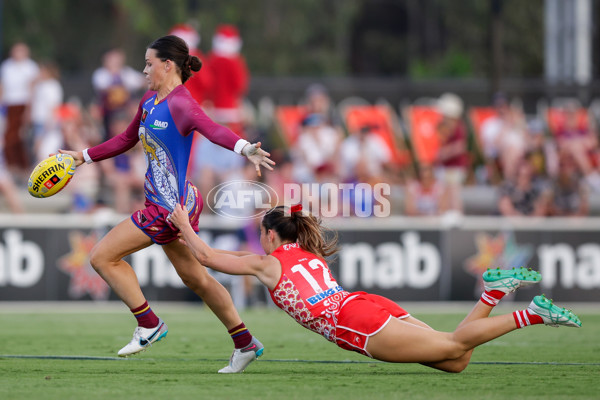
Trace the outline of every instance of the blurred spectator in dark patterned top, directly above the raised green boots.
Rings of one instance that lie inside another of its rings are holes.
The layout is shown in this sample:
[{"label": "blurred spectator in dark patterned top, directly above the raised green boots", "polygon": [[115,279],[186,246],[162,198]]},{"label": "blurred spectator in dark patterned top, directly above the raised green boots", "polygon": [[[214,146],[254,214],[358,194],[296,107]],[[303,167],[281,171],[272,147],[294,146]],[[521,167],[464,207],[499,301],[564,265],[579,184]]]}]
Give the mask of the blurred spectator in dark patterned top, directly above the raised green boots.
[{"label": "blurred spectator in dark patterned top, directly above the raised green boots", "polygon": [[542,178],[535,177],[528,157],[517,162],[516,175],[506,179],[499,192],[501,215],[543,217],[549,214],[552,191]]}]

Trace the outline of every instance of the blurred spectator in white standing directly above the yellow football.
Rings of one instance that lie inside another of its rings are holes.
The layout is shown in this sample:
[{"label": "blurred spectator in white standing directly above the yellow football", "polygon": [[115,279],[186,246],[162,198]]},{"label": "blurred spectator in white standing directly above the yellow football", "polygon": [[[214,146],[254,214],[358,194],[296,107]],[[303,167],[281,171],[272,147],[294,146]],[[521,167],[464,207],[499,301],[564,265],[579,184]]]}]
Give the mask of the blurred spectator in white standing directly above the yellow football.
[{"label": "blurred spectator in white standing directly above the yellow football", "polygon": [[63,103],[63,88],[58,77],[59,70],[56,64],[40,63],[40,74],[33,86],[31,99],[33,158],[36,162],[62,146],[58,110]]}]

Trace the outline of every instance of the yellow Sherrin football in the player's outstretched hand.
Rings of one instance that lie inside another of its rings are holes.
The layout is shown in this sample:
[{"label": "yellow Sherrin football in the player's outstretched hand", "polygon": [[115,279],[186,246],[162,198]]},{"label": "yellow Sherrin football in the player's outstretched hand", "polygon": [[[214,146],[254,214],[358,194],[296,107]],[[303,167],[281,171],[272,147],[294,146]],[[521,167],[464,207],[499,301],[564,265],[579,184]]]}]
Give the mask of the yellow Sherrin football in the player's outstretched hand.
[{"label": "yellow Sherrin football in the player's outstretched hand", "polygon": [[73,178],[75,160],[68,154],[55,154],[35,167],[27,187],[33,197],[50,197],[60,192]]}]

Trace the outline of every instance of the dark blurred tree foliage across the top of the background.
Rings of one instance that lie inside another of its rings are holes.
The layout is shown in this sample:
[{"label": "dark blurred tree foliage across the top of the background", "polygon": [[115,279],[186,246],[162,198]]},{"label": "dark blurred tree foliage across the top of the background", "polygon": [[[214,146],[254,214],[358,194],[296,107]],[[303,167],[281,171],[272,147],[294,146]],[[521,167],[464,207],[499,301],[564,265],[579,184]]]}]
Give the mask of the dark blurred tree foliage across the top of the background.
[{"label": "dark blurred tree foliage across the top of the background", "polygon": [[[502,0],[502,72],[543,74],[543,0]],[[35,58],[89,72],[110,47],[142,67],[145,46],[191,22],[210,50],[220,23],[240,29],[255,75],[485,77],[491,8],[481,0],[3,0],[2,51],[24,40]]]}]

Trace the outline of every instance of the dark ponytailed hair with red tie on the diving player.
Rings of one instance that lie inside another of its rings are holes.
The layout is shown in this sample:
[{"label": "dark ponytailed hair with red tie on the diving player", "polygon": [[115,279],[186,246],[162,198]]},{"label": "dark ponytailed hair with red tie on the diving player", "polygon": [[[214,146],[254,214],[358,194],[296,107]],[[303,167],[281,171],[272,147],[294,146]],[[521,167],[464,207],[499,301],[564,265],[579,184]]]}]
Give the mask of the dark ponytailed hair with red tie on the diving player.
[{"label": "dark ponytailed hair with red tie on the diving player", "polygon": [[321,220],[305,211],[290,213],[284,206],[267,211],[262,225],[265,230],[273,229],[282,241],[298,242],[309,253],[322,258],[338,251],[337,233],[321,225]]}]

